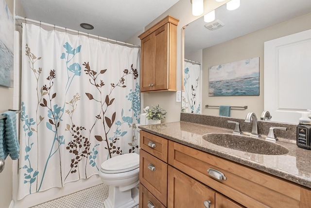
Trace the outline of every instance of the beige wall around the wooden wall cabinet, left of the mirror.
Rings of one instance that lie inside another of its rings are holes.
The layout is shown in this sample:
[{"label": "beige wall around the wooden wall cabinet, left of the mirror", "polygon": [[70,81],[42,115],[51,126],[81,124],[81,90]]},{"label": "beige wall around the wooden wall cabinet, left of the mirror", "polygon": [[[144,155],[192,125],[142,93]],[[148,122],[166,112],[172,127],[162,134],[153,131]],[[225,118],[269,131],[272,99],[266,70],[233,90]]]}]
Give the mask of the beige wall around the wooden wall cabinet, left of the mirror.
[{"label": "beige wall around the wooden wall cabinet, left of the mirror", "polygon": [[[204,1],[204,13],[208,13],[209,11],[218,8],[229,0],[225,0],[223,2],[217,2],[215,0],[205,0]],[[179,0],[175,5],[173,5],[170,9],[152,21],[145,27],[145,30],[152,27],[155,23],[166,17],[167,15],[171,15],[174,18],[179,19],[179,23],[177,26],[177,90],[181,90],[182,84],[182,71],[183,71],[183,56],[182,56],[182,28],[194,21],[199,17],[195,17],[192,15],[192,4],[190,0]],[[135,39],[135,42],[133,42]],[[126,42],[137,43],[139,38],[133,37],[127,40]],[[140,41],[139,41],[140,45]],[[155,92],[155,93],[143,93],[143,106],[151,106],[159,104],[163,107],[168,113],[167,117],[164,120],[165,122],[173,122],[180,120],[180,112],[181,112],[181,102],[176,102],[176,93],[175,92]]]}]

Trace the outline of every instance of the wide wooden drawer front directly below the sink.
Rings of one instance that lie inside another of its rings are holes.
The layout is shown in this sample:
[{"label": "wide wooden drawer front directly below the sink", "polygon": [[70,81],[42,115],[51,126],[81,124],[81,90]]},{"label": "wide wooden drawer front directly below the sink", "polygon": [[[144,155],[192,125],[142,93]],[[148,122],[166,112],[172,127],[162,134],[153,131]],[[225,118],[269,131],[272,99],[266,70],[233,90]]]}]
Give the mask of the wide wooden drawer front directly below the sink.
[{"label": "wide wooden drawer front directly below the sink", "polygon": [[[173,141],[169,164],[248,208],[299,208],[308,198],[293,183]],[[209,176],[209,168],[224,173],[226,180]]]}]

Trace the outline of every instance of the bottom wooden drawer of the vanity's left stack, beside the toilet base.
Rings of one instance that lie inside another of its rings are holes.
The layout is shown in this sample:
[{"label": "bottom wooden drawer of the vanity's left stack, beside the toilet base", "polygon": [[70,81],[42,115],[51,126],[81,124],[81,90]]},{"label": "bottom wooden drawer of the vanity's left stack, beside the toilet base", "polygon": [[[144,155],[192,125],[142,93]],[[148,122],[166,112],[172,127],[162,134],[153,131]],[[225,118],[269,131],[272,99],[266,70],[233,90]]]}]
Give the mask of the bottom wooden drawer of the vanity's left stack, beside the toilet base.
[{"label": "bottom wooden drawer of the vanity's left stack, beside the toilet base", "polygon": [[[149,207],[148,207],[149,206]],[[165,208],[144,186],[139,184],[139,208]]]}]

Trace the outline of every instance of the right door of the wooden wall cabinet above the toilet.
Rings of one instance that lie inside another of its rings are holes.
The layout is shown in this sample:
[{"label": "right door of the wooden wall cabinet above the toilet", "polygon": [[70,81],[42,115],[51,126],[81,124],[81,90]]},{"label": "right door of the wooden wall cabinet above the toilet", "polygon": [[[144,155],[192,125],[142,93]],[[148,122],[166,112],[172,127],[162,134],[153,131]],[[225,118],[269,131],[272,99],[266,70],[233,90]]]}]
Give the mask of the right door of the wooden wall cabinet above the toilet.
[{"label": "right door of the wooden wall cabinet above the toilet", "polygon": [[155,71],[154,90],[166,90],[169,87],[169,24],[155,31]]}]

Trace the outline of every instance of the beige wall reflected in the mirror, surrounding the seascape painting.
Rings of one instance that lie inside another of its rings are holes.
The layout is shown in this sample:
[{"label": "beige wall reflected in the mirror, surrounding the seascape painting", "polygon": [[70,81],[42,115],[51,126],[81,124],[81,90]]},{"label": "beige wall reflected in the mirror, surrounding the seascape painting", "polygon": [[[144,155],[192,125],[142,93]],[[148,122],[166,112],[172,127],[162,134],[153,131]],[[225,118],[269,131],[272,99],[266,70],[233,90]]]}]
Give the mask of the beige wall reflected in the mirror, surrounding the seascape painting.
[{"label": "beige wall reflected in the mirror, surrounding the seascape painting", "polygon": [[[247,105],[247,110],[232,110],[231,116],[245,118],[248,112],[255,112],[257,116],[260,116],[264,110],[264,42],[311,29],[309,22],[311,22],[311,13],[203,49],[203,80],[205,81],[202,88],[206,89],[203,91],[203,104]],[[259,57],[259,96],[208,96],[208,67],[253,57]],[[202,108],[202,113],[218,115],[219,110],[217,108]]]}]

